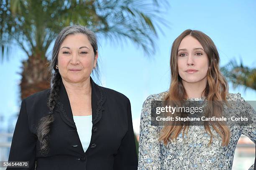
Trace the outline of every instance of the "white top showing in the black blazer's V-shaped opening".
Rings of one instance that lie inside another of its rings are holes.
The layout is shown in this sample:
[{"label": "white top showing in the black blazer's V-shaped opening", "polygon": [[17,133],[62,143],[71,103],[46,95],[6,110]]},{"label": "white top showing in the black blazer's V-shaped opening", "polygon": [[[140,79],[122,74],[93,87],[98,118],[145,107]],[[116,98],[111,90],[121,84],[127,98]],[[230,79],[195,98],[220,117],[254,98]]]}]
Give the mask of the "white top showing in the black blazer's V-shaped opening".
[{"label": "white top showing in the black blazer's V-shaped opening", "polygon": [[92,115],[73,116],[73,119],[77,127],[79,139],[85,152],[90,145],[92,136]]}]

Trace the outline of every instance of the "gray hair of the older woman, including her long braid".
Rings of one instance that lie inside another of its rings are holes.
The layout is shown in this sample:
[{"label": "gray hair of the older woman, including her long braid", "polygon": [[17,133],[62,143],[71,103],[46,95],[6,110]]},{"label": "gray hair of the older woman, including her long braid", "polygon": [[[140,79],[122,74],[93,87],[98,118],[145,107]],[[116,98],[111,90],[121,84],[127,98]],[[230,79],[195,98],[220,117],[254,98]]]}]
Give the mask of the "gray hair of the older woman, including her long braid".
[{"label": "gray hair of the older woman, including her long braid", "polygon": [[[51,71],[51,88],[49,91],[49,97],[47,101],[47,107],[49,113],[42,117],[38,123],[37,135],[38,141],[40,142],[40,152],[42,155],[49,153],[49,140],[48,135],[51,130],[51,123],[54,122],[53,110],[58,99],[58,92],[61,86],[61,75],[59,74],[58,69],[56,69],[56,64],[58,63],[58,53],[60,46],[64,39],[68,35],[82,33],[87,36],[90,44],[92,45],[94,54],[98,50],[97,38],[94,32],[82,25],[72,25],[64,27],[61,32],[58,34],[56,41],[54,43],[54,48],[52,51],[51,61],[49,65],[49,71]],[[96,63],[96,68],[93,70],[93,74],[96,76],[99,75],[98,63]]]}]

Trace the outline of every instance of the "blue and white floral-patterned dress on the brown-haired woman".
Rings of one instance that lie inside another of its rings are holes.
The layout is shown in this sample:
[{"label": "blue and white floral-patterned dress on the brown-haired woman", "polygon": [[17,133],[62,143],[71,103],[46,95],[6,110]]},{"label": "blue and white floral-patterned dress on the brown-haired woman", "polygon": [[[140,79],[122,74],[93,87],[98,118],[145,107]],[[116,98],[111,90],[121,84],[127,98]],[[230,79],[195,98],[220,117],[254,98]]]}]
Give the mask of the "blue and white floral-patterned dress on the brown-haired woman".
[{"label": "blue and white floral-patterned dress on the brown-haired woman", "polygon": [[[163,100],[167,92],[153,94],[143,103],[141,112],[138,170],[231,170],[236,144],[241,134],[256,142],[256,126],[230,126],[231,137],[228,146],[222,146],[220,135],[212,128],[214,135],[208,147],[210,135],[204,126],[190,126],[184,137],[179,134],[177,141],[167,146],[158,141],[162,126],[151,126],[151,101]],[[189,100],[203,100],[195,98]],[[252,117],[256,122],[256,112],[241,94],[228,94],[227,100],[240,100],[239,105],[232,107],[232,112]],[[254,165],[249,170],[253,170]]]}]

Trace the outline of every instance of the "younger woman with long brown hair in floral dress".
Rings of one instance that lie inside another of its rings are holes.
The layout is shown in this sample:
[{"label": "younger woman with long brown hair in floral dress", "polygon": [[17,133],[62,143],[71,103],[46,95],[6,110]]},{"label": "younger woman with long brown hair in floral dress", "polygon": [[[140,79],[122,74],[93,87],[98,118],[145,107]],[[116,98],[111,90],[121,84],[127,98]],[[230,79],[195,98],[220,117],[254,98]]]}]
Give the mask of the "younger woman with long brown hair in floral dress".
[{"label": "younger woman with long brown hair in floral dress", "polygon": [[[231,170],[241,134],[256,142],[256,127],[227,126],[205,122],[204,126],[153,126],[151,101],[239,101],[230,112],[255,117],[256,112],[241,97],[228,93],[219,70],[220,58],[212,40],[197,30],[185,30],[173,45],[168,91],[148,96],[141,113],[138,170]],[[220,108],[212,107],[212,115]],[[254,122],[255,123],[255,122]],[[253,169],[253,166],[251,167]]]}]

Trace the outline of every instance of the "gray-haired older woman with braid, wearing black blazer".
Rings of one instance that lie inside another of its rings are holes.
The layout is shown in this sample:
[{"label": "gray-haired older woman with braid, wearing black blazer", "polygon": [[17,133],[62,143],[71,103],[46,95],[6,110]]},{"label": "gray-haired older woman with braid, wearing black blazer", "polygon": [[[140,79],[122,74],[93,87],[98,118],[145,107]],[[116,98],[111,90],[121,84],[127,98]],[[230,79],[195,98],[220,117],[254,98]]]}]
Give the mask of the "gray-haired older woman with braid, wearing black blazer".
[{"label": "gray-haired older woman with braid, wearing black blazer", "polygon": [[137,169],[130,101],[95,84],[97,58],[95,33],[80,25],[61,30],[51,88],[23,99],[9,161],[29,161],[31,170]]}]

